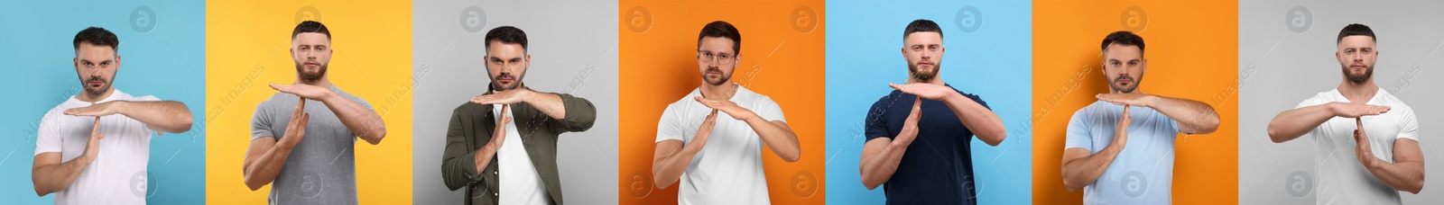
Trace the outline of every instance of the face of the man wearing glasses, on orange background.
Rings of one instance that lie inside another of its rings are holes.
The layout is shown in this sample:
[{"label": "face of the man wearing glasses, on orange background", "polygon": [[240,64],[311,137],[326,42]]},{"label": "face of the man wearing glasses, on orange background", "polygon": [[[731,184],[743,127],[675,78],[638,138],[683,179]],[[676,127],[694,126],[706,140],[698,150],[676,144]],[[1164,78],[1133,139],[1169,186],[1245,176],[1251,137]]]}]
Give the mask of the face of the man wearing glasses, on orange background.
[{"label": "face of the man wearing glasses, on orange background", "polygon": [[728,38],[702,38],[702,43],[697,45],[697,69],[702,72],[702,81],[712,85],[732,81],[732,71],[742,61],[742,56],[732,52],[734,43]]}]

